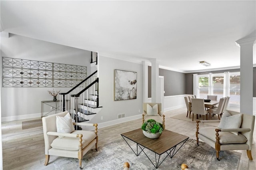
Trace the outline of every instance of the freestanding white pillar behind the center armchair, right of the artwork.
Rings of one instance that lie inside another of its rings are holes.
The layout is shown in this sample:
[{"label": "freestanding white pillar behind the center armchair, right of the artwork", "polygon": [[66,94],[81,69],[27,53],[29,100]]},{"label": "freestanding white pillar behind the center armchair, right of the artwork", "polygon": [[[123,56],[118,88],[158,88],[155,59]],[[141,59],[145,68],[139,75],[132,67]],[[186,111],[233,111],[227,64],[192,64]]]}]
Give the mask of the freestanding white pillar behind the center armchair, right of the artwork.
[{"label": "freestanding white pillar behind the center armchair, right of the artwork", "polygon": [[151,102],[161,103],[160,80],[159,80],[159,63],[156,59],[151,61]]}]

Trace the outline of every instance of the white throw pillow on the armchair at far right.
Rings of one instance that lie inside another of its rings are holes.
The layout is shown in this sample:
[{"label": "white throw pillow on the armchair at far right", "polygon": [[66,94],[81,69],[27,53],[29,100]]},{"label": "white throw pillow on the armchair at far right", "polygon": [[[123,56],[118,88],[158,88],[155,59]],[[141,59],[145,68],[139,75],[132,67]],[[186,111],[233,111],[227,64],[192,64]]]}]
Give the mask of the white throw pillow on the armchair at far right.
[{"label": "white throw pillow on the armchair at far right", "polygon": [[[218,128],[240,128],[242,123],[241,113],[233,116],[227,116],[229,113],[225,115],[224,113],[220,119],[220,124],[218,125]],[[231,132],[231,133],[238,135],[238,132]]]}]

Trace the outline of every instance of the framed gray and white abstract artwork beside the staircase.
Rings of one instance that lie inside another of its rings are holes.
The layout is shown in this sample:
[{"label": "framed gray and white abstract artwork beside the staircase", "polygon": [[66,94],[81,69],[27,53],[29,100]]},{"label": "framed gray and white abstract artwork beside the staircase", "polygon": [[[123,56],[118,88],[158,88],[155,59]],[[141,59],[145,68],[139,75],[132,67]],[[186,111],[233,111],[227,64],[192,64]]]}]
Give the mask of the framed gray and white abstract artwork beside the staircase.
[{"label": "framed gray and white abstract artwork beside the staircase", "polygon": [[114,100],[137,98],[137,72],[114,70]]}]

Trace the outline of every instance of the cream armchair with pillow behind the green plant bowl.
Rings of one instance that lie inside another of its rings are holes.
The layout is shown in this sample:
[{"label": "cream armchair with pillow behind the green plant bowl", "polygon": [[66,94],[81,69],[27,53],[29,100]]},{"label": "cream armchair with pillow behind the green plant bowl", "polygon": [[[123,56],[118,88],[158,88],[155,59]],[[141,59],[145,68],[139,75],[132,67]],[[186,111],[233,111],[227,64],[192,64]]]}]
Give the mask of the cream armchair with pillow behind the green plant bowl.
[{"label": "cream armchair with pillow behind the green plant bowl", "polygon": [[142,124],[148,119],[154,119],[155,121],[162,123],[165,128],[164,117],[161,103],[143,103]]}]

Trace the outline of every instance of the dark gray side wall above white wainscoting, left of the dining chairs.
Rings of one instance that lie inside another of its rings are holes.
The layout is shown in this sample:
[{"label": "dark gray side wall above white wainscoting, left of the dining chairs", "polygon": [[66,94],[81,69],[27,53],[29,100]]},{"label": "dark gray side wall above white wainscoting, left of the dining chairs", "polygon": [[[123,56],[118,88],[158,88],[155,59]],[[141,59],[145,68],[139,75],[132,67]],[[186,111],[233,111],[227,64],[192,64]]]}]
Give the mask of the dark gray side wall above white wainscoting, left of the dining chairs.
[{"label": "dark gray side wall above white wainscoting, left of the dining chairs", "polygon": [[[159,75],[164,76],[164,96],[186,94],[185,73],[159,69]],[[151,66],[148,66],[148,97],[151,97]]]}]

